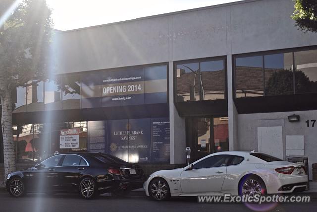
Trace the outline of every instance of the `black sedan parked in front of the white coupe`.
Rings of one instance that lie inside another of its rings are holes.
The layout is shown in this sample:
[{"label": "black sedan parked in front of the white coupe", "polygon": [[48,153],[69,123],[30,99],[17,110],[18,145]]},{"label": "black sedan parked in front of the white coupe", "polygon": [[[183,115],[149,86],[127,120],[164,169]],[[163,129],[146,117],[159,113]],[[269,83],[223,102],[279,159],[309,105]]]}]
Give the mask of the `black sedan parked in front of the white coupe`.
[{"label": "black sedan parked in front of the white coupe", "polygon": [[104,153],[57,154],[24,171],[8,175],[5,185],[10,195],[28,192],[79,192],[85,199],[97,194],[125,195],[142,188],[146,177],[139,165]]}]

